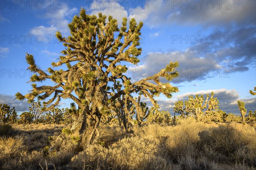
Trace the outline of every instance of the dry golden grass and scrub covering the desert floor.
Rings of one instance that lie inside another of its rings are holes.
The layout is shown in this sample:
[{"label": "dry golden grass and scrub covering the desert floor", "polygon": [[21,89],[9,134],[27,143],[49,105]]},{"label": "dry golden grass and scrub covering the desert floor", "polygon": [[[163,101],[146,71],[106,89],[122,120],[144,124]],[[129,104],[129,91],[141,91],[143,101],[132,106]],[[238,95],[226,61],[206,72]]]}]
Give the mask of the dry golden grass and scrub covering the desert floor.
[{"label": "dry golden grass and scrub covering the desert floor", "polygon": [[133,133],[101,126],[99,139],[82,152],[72,150],[74,143],[67,140],[47,157],[42,150],[48,137],[58,136],[63,125],[4,128],[9,136],[0,137],[0,169],[256,170],[255,124],[184,120],[176,126],[135,126]]}]

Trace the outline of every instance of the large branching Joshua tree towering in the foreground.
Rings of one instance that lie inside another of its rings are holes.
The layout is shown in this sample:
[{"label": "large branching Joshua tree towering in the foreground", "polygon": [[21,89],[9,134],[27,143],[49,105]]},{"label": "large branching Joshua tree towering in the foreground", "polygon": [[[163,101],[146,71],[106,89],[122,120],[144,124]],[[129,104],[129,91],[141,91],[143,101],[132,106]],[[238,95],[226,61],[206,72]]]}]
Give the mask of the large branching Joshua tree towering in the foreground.
[{"label": "large branching Joshua tree towering in the foreground", "polygon": [[[33,102],[36,97],[44,100],[46,105],[44,111],[49,111],[58,105],[61,98],[72,99],[80,110],[79,118],[76,120],[79,135],[83,136],[84,132],[90,129],[90,135],[86,137],[88,144],[92,142],[97,132],[102,114],[108,113],[119,96],[125,95],[135,105],[136,112],[140,116],[143,110],[131,94],[140,92],[157,105],[154,96],[163,93],[171,97],[173,92],[178,91],[178,88],[170,85],[169,82],[160,82],[160,77],[170,81],[178,76],[175,71],[178,62],[170,62],[159,73],[132,83],[124,74],[128,68],[121,62],[134,65],[139,62],[137,57],[142,49],[138,46],[143,23],[137,24],[132,18],[127,28],[127,18],[123,18],[122,26],[118,28],[116,19],[112,16],[108,16],[107,21],[106,19],[107,17],[102,13],[96,17],[86,14],[81,8],[80,15],[74,16],[73,21],[68,24],[71,35],[62,37],[59,31],[56,33],[56,37],[66,48],[61,51],[63,55],[59,57],[58,62],[52,62],[52,68],[48,68],[50,75],[36,65],[33,55],[26,54],[28,69],[35,73],[30,77],[29,82],[51,79],[55,85],[38,87],[33,83],[30,93],[24,96],[20,93],[16,94],[18,100],[27,99],[28,102]],[[66,65],[67,70],[56,69],[61,65]],[[123,87],[119,90],[117,90],[118,81]],[[110,86],[116,93],[111,91]]]}]

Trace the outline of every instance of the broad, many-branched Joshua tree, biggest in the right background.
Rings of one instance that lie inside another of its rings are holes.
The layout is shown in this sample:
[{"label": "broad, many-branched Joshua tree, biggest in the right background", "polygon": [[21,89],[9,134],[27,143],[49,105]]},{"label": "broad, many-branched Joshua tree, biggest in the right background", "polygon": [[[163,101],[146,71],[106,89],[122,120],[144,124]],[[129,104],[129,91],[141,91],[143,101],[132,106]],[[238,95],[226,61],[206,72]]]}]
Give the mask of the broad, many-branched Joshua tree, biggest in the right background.
[{"label": "broad, many-branched Joshua tree, biggest in the right background", "polygon": [[186,111],[189,114],[192,114],[198,122],[208,122],[217,116],[216,111],[219,108],[219,102],[217,97],[213,97],[214,93],[212,92],[211,96],[207,94],[207,98],[204,99],[204,96],[196,95],[189,96],[189,99],[185,101]]}]

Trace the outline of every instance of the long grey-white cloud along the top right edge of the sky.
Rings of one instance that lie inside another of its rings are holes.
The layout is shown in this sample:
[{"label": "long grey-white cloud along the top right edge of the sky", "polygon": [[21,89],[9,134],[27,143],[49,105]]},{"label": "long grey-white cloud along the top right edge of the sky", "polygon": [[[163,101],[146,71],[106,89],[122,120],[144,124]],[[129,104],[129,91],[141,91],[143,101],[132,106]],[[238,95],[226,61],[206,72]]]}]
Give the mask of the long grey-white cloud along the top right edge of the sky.
[{"label": "long grey-white cloud along the top right edge of the sky", "polygon": [[[220,3],[221,2],[221,3]],[[165,24],[226,26],[227,23],[253,23],[255,4],[252,0],[172,1],[148,0],[145,9],[130,9],[130,16],[143,20],[149,27]],[[246,12],[244,12],[246,11]]]}]

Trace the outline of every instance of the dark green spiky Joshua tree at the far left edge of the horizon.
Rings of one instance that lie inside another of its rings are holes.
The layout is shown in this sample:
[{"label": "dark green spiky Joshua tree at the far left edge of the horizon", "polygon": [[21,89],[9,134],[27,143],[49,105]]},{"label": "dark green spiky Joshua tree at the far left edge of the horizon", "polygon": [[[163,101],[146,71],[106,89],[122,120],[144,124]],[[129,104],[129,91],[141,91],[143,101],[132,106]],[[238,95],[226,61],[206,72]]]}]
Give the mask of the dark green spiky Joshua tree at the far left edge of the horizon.
[{"label": "dark green spiky Joshua tree at the far left edge of the horizon", "polygon": [[9,105],[0,103],[0,121],[3,123],[15,123],[17,121],[15,108],[11,109]]}]

